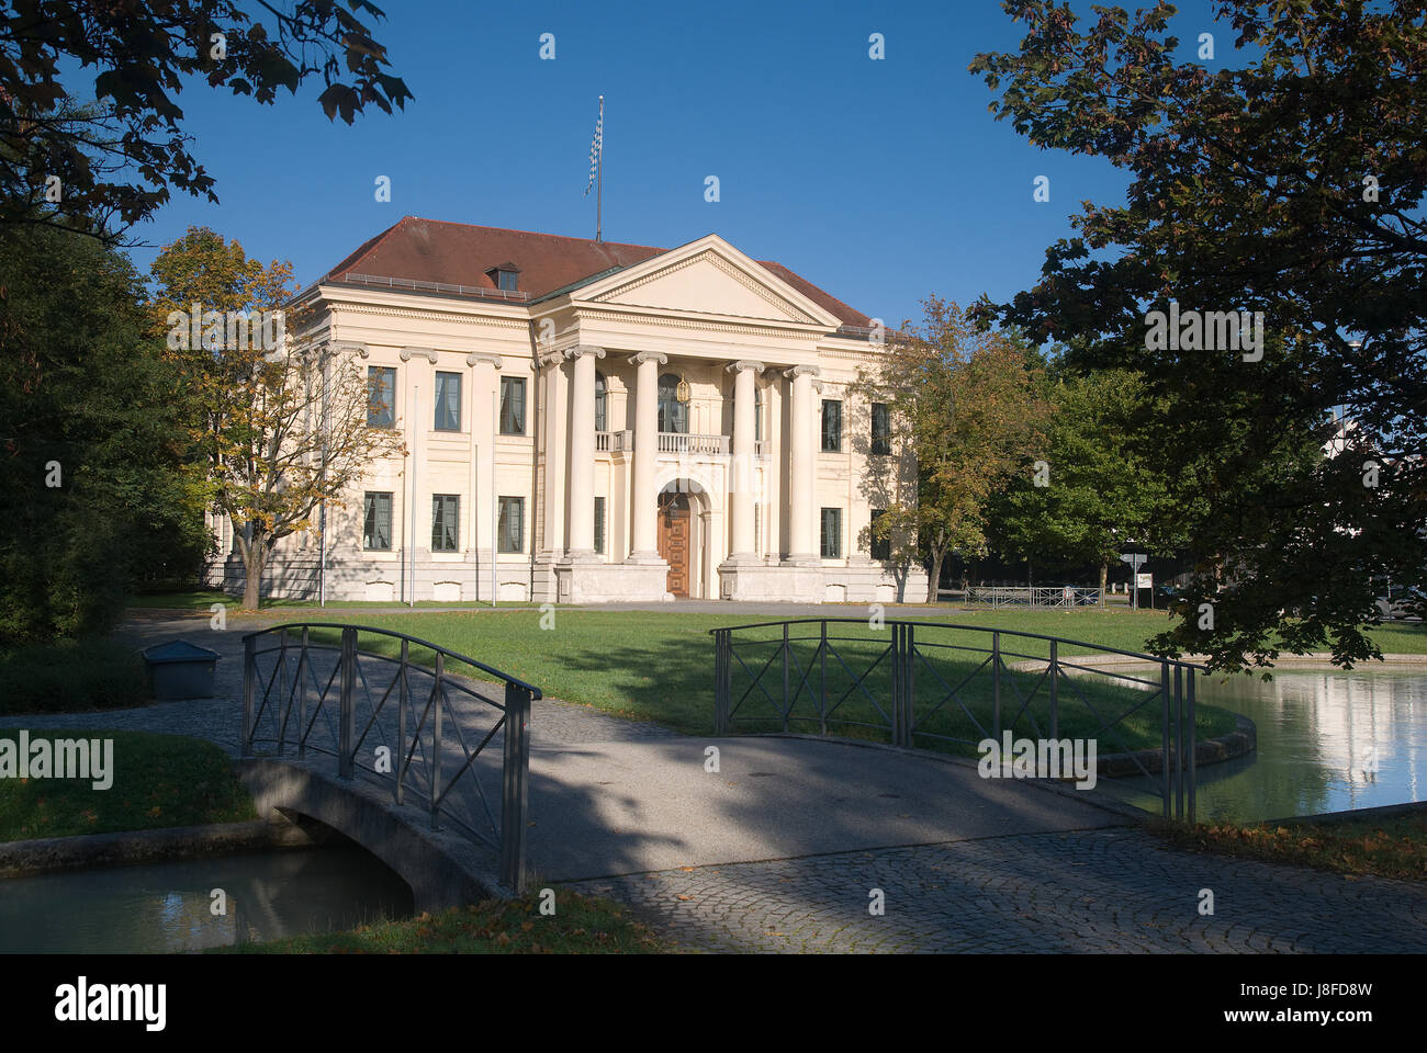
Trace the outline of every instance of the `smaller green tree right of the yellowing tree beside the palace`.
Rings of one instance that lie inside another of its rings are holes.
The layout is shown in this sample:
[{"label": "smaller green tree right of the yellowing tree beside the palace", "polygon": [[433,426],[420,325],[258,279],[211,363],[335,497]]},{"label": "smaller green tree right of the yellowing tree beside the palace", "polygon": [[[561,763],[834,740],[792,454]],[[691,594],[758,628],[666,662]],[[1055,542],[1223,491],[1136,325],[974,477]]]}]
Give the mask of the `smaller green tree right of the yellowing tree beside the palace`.
[{"label": "smaller green tree right of the yellowing tree beside the palace", "polygon": [[1157,407],[1133,372],[1060,372],[1046,385],[1055,408],[1045,462],[1017,472],[990,502],[996,548],[1052,566],[1110,565],[1129,544],[1169,552],[1184,544],[1166,508],[1169,484],[1130,441]]}]

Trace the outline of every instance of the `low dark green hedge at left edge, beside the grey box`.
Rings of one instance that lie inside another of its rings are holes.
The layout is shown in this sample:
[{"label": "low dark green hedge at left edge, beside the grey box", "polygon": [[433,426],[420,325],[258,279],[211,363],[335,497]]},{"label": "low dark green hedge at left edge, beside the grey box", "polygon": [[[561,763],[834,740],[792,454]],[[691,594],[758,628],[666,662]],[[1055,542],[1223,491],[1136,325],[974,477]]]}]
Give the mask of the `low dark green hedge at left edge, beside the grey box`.
[{"label": "low dark green hedge at left edge, beside the grey box", "polygon": [[146,698],[138,652],[107,639],[33,644],[0,653],[0,713],[123,709]]}]

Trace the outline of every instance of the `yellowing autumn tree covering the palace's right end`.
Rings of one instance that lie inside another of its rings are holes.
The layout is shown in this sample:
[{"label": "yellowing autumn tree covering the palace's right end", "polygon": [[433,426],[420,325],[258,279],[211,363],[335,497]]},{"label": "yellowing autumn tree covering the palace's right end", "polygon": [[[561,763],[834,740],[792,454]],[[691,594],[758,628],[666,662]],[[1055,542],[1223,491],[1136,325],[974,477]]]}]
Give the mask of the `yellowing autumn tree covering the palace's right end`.
[{"label": "yellowing autumn tree covering the palace's right end", "polygon": [[890,334],[858,385],[888,407],[892,441],[916,459],[915,491],[889,487],[892,458],[870,459],[863,491],[886,508],[872,534],[900,538],[902,555],[926,559],[928,602],[936,602],[942,562],[985,546],[986,499],[1037,448],[1047,407],[1015,334],[979,331],[935,295],[922,307],[922,324]]}]

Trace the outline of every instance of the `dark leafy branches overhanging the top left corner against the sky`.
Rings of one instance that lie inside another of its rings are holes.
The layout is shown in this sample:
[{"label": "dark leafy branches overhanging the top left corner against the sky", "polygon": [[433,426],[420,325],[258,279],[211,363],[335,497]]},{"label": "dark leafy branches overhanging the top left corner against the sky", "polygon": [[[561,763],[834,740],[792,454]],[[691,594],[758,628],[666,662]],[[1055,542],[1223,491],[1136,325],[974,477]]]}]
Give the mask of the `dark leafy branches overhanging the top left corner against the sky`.
[{"label": "dark leafy branches overhanging the top left corner against the sky", "polygon": [[[391,113],[411,93],[358,16],[367,0],[297,0],[258,16],[237,0],[0,9],[0,227],[59,225],[107,243],[168,201],[170,187],[217,203],[190,151],[177,96],[191,81],[270,104],[313,77],[328,120]],[[81,71],[96,68],[93,94]]]}]

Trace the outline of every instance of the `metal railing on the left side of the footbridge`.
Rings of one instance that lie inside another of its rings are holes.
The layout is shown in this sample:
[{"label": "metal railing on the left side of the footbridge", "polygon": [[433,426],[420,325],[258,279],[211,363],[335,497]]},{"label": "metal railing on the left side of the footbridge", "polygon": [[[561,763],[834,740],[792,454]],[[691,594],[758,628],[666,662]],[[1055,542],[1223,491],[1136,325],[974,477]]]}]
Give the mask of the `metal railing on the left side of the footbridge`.
[{"label": "metal railing on the left side of the footbridge", "polygon": [[[340,622],[243,638],[243,756],[335,759],[499,855],[522,890],[529,711],[539,688],[415,636]],[[499,738],[499,749],[492,743]]]}]

